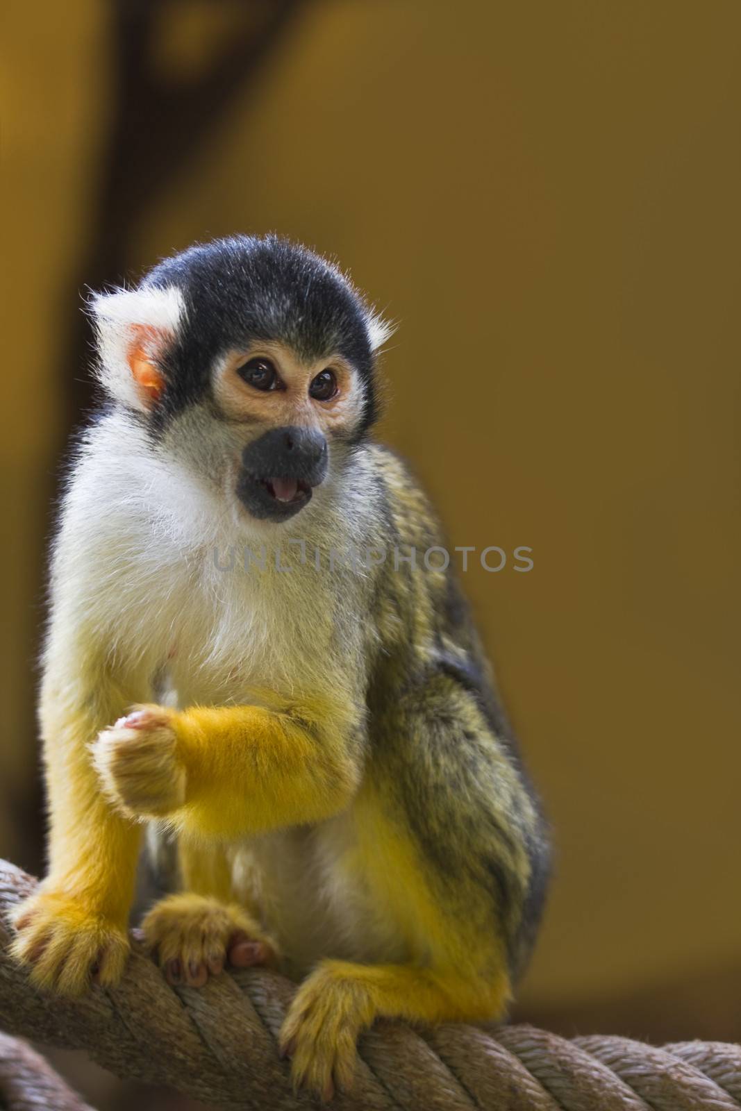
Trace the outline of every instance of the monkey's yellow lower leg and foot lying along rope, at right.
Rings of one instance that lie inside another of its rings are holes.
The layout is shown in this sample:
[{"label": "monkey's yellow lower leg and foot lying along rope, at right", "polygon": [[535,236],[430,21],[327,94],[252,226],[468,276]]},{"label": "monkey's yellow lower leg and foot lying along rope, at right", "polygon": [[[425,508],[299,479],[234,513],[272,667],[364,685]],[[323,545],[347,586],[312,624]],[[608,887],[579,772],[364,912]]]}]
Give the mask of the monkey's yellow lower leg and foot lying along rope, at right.
[{"label": "monkey's yellow lower leg and foot lying along rope, at right", "polygon": [[467,982],[455,970],[402,964],[322,961],[302,983],[281,1030],[297,1088],[321,1099],[352,1087],[356,1041],[374,1019],[410,1022],[483,1021],[499,1018],[510,998],[509,977]]}]

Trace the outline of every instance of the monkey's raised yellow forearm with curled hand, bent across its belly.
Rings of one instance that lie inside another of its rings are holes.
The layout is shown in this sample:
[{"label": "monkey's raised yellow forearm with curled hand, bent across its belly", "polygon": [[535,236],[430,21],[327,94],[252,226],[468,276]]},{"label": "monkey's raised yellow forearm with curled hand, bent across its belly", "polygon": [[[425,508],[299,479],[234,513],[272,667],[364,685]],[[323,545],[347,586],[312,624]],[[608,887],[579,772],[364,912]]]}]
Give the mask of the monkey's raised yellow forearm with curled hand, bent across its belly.
[{"label": "monkey's raised yellow forearm with curled hand, bent across its belly", "polygon": [[108,798],[130,817],[222,840],[338,813],[360,782],[352,701],[266,692],[260,701],[139,707],[96,744]]}]

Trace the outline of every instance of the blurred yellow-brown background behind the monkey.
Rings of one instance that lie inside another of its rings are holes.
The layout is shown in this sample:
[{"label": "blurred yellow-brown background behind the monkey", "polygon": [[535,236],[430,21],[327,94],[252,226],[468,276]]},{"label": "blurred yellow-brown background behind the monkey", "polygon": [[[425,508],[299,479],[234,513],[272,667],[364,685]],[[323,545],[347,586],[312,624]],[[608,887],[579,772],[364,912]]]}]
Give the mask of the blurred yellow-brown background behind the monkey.
[{"label": "blurred yellow-brown background behind the monkey", "polygon": [[379,434],[451,544],[533,549],[464,575],[557,842],[518,1014],[738,1038],[737,0],[10,8],[0,854],[84,283],[276,230],[399,321]]}]

